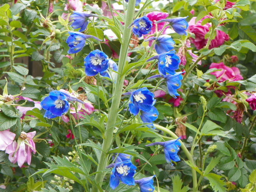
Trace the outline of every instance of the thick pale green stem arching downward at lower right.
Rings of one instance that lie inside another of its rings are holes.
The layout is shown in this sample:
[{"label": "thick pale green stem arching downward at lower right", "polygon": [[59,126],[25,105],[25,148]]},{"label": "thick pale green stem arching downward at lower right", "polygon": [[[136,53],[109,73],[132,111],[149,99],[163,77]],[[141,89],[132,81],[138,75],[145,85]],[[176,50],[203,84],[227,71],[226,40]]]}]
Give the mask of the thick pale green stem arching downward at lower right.
[{"label": "thick pale green stem arching downward at lower right", "polygon": [[[169,129],[162,127],[161,125],[157,125],[157,124],[154,124],[154,126],[156,127],[156,129],[159,129],[161,131],[168,133],[173,138],[175,138],[175,139],[178,138],[178,136],[175,133],[173,133],[172,131],[170,131]],[[184,143],[181,140],[179,140],[179,142],[181,144],[180,147],[184,151],[184,153],[187,156],[187,158],[189,159],[189,161],[193,164],[193,166],[196,166],[194,163],[193,156],[189,153],[189,150],[187,150],[187,147],[184,145]],[[196,192],[197,191],[197,172],[192,168],[191,168],[191,172],[192,172],[192,178],[193,178],[193,192]]]}]

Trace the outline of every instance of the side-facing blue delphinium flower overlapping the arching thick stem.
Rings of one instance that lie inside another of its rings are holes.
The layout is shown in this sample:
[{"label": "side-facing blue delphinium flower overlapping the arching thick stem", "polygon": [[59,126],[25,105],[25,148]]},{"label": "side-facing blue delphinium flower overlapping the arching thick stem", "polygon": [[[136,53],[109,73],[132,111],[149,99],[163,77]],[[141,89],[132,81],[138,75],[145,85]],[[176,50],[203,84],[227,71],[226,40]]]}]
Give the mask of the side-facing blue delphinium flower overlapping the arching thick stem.
[{"label": "side-facing blue delphinium flower overlapping the arching thick stem", "polygon": [[180,161],[179,156],[177,155],[178,151],[180,150],[180,142],[178,141],[180,139],[180,137],[178,139],[173,139],[173,140],[169,140],[166,142],[155,142],[155,143],[150,143],[148,146],[152,146],[152,145],[161,145],[164,147],[164,155],[165,155],[165,160],[167,161],[167,163],[170,163],[171,165],[172,161]]}]

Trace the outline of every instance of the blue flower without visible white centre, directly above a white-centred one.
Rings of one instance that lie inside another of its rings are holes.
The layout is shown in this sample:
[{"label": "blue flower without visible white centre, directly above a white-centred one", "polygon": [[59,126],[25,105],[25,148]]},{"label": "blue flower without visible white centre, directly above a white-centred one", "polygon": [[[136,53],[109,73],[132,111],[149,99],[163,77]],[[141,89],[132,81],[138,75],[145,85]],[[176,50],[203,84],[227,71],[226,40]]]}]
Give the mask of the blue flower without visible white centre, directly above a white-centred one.
[{"label": "blue flower without visible white centre, directly above a white-centred one", "polygon": [[154,48],[157,54],[169,52],[171,49],[173,49],[173,46],[175,45],[175,42],[172,40],[172,37],[170,35],[160,35],[158,38],[150,37],[145,41],[150,40],[156,40]]}]

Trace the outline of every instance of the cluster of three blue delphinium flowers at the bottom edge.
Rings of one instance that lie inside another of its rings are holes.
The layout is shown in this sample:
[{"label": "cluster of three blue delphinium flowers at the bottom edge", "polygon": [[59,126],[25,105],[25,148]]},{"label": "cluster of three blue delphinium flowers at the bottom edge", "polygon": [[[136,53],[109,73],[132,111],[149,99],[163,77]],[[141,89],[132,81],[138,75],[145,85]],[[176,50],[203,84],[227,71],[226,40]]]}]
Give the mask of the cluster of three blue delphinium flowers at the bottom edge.
[{"label": "cluster of three blue delphinium flowers at the bottom edge", "polygon": [[154,191],[153,178],[145,177],[140,180],[134,180],[134,174],[136,172],[136,166],[131,162],[131,155],[127,155],[124,153],[120,153],[116,157],[115,163],[108,166],[113,167],[110,174],[110,182],[109,185],[112,189],[115,189],[120,180],[127,185],[135,185],[138,184],[140,188],[140,192],[149,192]]}]

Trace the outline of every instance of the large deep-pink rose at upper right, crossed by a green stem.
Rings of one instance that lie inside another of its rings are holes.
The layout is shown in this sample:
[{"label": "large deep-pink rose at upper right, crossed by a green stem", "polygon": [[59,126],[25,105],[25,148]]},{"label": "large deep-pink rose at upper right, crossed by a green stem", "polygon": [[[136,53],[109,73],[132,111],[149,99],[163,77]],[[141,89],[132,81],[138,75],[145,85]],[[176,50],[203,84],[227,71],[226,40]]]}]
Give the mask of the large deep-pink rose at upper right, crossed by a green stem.
[{"label": "large deep-pink rose at upper right, crossed by a green stem", "polygon": [[[195,47],[199,50],[199,49],[202,49],[207,43],[208,39],[205,39],[204,36],[209,31],[209,28],[211,27],[211,23],[206,23],[203,26],[201,25],[202,20],[204,20],[205,18],[208,18],[208,16],[205,16],[204,18],[199,20],[196,24],[195,24],[195,18],[196,17],[193,17],[189,21],[189,31],[195,34],[195,39],[190,38],[190,40],[195,45]],[[229,39],[228,34],[224,33],[223,31],[216,30],[216,37],[211,41],[209,49],[223,45],[224,41],[227,41],[228,39]]]}]

